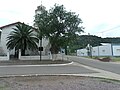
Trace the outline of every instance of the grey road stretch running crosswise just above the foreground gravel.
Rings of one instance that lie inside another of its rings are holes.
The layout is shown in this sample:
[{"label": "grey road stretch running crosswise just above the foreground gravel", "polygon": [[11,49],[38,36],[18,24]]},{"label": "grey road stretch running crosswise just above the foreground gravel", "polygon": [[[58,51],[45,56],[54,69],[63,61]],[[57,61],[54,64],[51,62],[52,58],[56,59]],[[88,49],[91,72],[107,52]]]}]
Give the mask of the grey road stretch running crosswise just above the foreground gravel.
[{"label": "grey road stretch running crosswise just above the foreground gravel", "polygon": [[28,74],[87,74],[95,71],[81,66],[0,66],[0,76]]}]

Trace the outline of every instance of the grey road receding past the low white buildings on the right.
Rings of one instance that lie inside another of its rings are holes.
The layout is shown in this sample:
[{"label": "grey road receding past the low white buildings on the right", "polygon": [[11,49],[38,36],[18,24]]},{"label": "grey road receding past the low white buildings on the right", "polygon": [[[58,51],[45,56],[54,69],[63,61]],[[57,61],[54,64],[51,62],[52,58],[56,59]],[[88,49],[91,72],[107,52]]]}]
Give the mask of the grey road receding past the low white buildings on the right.
[{"label": "grey road receding past the low white buildings on the right", "polygon": [[98,69],[103,69],[106,71],[110,71],[116,74],[120,74],[120,64],[114,64],[110,62],[101,62],[97,60],[90,60],[88,58],[77,57],[77,56],[68,56],[70,60],[76,61],[80,64],[84,64],[87,66],[95,67]]}]

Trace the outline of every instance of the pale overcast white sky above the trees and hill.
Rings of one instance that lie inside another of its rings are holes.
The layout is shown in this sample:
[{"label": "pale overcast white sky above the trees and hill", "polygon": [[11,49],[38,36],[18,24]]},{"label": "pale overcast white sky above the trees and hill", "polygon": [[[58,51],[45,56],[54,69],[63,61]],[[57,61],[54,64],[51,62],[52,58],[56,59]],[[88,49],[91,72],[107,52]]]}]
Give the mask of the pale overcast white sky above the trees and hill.
[{"label": "pale overcast white sky above the trees and hill", "polygon": [[[84,33],[100,37],[120,37],[120,0],[42,0],[50,9],[57,3],[79,14]],[[0,0],[0,26],[17,21],[32,25],[41,0]]]}]

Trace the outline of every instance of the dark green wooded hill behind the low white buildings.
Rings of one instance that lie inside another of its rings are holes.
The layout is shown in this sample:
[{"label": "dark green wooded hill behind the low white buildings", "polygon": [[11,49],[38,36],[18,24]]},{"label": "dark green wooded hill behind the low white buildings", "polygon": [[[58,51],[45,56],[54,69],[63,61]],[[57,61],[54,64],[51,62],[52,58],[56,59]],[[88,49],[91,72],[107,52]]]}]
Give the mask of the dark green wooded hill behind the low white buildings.
[{"label": "dark green wooded hill behind the low white buildings", "polygon": [[81,35],[77,37],[76,42],[69,46],[69,49],[70,52],[75,52],[77,49],[86,48],[87,44],[95,47],[101,43],[120,43],[120,37],[101,38],[95,35]]}]

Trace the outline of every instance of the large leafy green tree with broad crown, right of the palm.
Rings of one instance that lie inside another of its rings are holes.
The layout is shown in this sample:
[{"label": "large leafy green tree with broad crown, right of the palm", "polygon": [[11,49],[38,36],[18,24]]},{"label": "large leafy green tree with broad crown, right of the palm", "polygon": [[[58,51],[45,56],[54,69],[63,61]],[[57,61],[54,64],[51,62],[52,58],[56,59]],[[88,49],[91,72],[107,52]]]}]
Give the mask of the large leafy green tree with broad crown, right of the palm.
[{"label": "large leafy green tree with broad crown, right of the palm", "polygon": [[48,12],[37,15],[35,23],[41,27],[42,35],[49,39],[52,54],[57,54],[60,48],[70,45],[76,40],[76,35],[83,31],[79,15],[66,11],[63,5],[55,4]]}]

